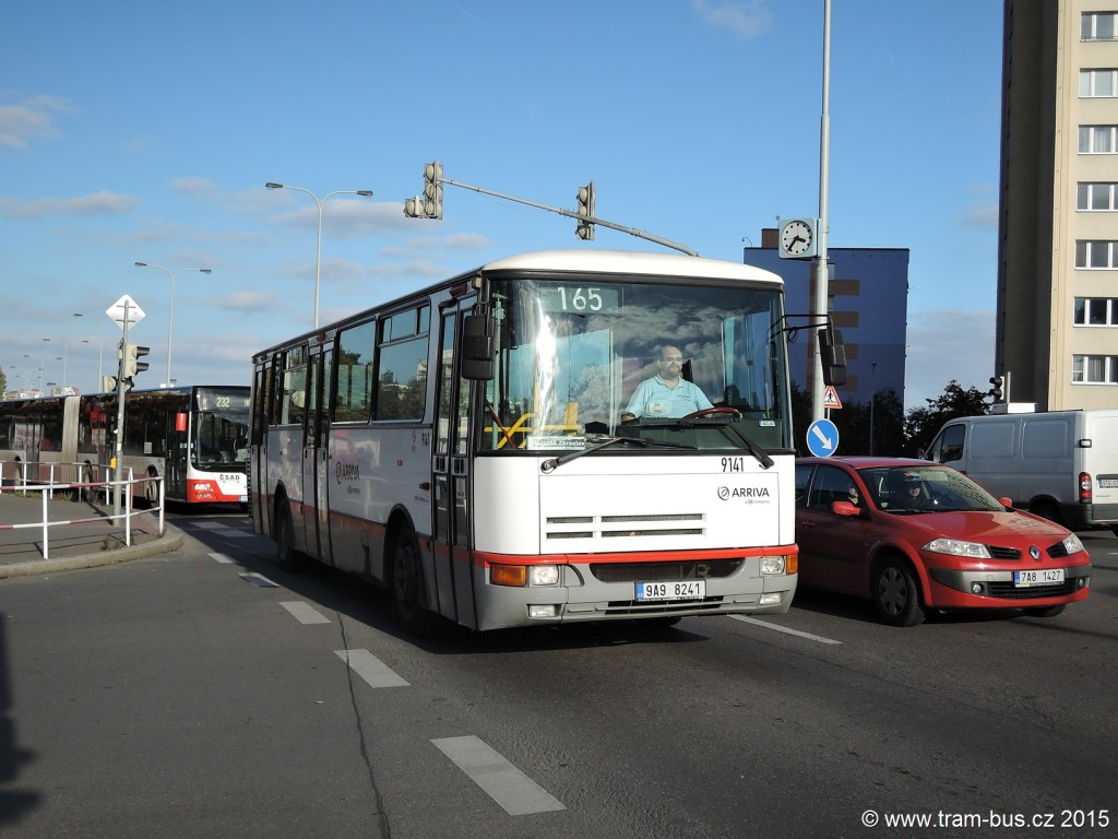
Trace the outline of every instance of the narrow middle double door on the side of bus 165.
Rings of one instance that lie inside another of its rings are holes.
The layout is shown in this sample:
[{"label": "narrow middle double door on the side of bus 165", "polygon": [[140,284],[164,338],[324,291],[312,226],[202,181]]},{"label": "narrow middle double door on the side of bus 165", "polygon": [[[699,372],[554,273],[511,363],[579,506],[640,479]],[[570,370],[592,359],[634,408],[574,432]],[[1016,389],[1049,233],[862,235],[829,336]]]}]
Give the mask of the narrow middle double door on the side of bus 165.
[{"label": "narrow middle double door on the side of bus 165", "polygon": [[306,424],[303,435],[303,502],[310,515],[303,519],[306,527],[306,553],[330,562],[330,499],[326,497],[330,469],[330,406],[323,397],[333,352],[322,345],[311,347],[306,368]]}]

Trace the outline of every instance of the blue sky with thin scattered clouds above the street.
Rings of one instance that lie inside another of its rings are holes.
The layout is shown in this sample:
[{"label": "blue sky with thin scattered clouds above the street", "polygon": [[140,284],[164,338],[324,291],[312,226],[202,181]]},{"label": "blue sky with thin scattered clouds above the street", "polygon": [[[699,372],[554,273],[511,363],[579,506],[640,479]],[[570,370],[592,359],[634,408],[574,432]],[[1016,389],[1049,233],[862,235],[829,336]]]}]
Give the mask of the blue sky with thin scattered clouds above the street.
[{"label": "blue sky with thin scattered clouds above the street", "polygon": [[[0,29],[0,361],[94,389],[130,294],[146,383],[245,383],[256,350],[483,262],[660,249],[446,187],[423,164],[740,262],[819,197],[823,0],[19,3]],[[833,0],[830,245],[911,249],[906,406],[994,366],[1002,3]],[[747,242],[748,239],[748,242]],[[80,318],[74,317],[80,313]],[[44,341],[49,338],[49,341]],[[103,358],[101,348],[104,347]],[[64,360],[59,360],[63,357]]]}]

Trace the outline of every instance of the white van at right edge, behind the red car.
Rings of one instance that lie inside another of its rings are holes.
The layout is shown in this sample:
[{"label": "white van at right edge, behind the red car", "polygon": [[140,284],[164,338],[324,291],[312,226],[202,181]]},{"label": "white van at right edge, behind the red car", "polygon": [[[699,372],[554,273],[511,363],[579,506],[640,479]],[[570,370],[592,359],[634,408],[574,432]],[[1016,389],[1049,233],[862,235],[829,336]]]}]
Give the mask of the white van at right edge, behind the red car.
[{"label": "white van at right edge, behind the red car", "polygon": [[1071,529],[1118,535],[1118,409],[951,420],[925,453]]}]

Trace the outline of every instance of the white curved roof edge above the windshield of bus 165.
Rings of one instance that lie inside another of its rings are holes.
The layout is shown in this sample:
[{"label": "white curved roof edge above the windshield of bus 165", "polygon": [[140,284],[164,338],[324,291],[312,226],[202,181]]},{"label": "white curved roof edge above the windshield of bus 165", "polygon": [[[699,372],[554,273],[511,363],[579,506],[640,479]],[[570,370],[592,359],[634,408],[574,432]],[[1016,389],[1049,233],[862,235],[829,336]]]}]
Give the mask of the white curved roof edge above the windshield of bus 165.
[{"label": "white curved roof edge above the windshield of bus 165", "polygon": [[726,260],[686,254],[641,251],[534,251],[486,263],[490,271],[593,271],[600,274],[659,274],[689,277],[727,277],[783,285],[771,271]]}]

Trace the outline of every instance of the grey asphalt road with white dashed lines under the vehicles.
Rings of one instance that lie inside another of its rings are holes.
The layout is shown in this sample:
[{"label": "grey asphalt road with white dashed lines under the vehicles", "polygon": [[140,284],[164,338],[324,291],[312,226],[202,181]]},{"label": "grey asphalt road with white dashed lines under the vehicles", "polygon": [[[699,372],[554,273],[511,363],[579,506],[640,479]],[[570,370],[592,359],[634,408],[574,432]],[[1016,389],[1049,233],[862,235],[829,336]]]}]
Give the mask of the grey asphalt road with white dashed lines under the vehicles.
[{"label": "grey asphalt road with white dashed lines under the vehicles", "polygon": [[241,516],[176,525],[177,554],[0,581],[4,839],[1115,835],[1109,534],[1050,620],[800,592],[416,641]]}]

